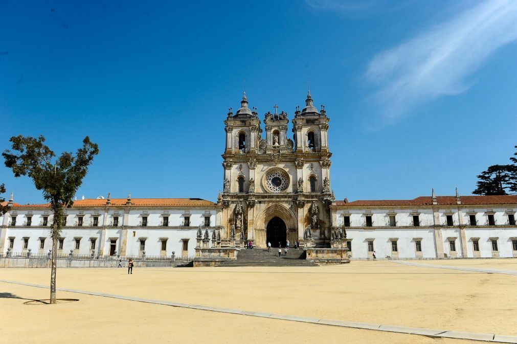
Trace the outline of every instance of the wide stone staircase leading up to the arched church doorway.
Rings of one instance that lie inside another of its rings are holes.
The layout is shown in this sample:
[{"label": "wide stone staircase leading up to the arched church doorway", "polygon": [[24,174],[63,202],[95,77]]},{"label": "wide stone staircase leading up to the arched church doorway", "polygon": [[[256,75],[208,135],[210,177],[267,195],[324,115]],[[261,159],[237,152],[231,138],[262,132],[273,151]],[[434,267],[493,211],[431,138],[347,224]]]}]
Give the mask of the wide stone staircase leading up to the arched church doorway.
[{"label": "wide stone staircase leading up to the arched church doorway", "polygon": [[317,267],[316,262],[305,260],[303,249],[291,248],[284,255],[278,256],[278,248],[271,247],[271,252],[267,248],[241,249],[237,253],[237,259],[232,261],[222,261],[221,267]]}]

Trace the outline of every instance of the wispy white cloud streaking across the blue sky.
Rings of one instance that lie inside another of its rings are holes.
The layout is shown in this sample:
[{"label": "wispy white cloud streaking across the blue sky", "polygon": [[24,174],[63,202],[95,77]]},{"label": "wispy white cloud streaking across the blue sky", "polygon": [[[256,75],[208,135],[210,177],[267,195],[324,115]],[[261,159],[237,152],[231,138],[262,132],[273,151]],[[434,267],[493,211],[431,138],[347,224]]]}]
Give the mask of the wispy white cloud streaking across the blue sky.
[{"label": "wispy white cloud streaking across the blue sky", "polygon": [[517,1],[491,0],[377,54],[366,72],[374,99],[392,122],[416,105],[469,88],[467,77],[517,39]]}]

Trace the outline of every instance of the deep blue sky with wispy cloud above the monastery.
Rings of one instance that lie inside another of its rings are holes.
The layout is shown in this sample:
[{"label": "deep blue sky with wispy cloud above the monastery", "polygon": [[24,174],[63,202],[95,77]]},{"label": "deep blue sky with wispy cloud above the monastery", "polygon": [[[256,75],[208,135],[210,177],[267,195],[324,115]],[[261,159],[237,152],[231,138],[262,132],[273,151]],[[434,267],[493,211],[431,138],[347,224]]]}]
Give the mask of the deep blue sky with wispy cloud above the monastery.
[{"label": "deep blue sky with wispy cloud above the monastery", "polygon": [[[338,199],[470,194],[517,145],[516,41],[514,1],[4,0],[0,149],[89,135],[78,198],[216,200],[243,80],[263,119],[275,104],[292,118],[310,78]],[[2,166],[0,181],[42,202],[27,177]]]}]

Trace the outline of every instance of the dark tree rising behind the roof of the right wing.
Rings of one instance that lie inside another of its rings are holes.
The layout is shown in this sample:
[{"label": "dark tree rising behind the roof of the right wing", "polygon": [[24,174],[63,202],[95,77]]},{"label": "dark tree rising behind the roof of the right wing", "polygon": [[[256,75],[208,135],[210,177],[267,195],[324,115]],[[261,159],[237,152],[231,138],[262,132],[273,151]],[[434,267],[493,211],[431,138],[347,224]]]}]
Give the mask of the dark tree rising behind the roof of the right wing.
[{"label": "dark tree rising behind the roof of the right wing", "polygon": [[492,165],[478,176],[476,195],[508,195],[517,192],[517,166]]}]

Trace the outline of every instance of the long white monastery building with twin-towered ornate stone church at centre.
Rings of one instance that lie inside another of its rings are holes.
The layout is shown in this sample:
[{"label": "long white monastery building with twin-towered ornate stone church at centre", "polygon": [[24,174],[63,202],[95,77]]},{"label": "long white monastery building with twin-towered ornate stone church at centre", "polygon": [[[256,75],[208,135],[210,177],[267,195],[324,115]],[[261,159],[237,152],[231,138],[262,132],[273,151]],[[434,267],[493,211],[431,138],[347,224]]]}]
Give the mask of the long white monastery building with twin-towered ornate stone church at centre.
[{"label": "long white monastery building with twin-towered ornate stone church at centre", "polygon": [[[81,199],[65,212],[58,253],[94,258],[193,257],[297,242],[325,255],[341,245],[351,259],[517,257],[517,196],[421,196],[410,200],[336,200],[331,189],[329,117],[309,94],[288,115],[230,108],[225,124],[223,192],[199,198]],[[263,125],[262,125],[263,124]],[[51,249],[48,205],[21,205],[0,216],[0,257]],[[319,251],[318,251],[319,250]],[[309,253],[308,253],[309,257]],[[235,258],[235,256],[234,256]]]}]

